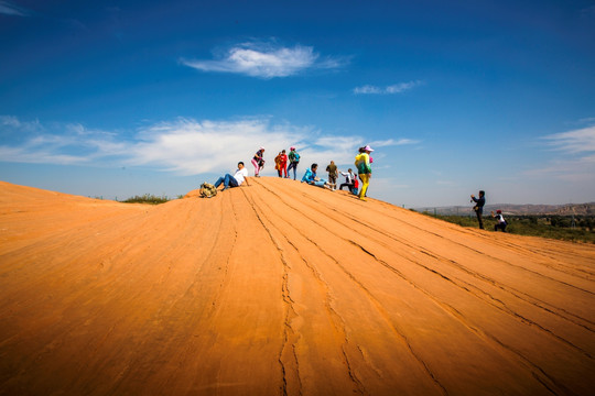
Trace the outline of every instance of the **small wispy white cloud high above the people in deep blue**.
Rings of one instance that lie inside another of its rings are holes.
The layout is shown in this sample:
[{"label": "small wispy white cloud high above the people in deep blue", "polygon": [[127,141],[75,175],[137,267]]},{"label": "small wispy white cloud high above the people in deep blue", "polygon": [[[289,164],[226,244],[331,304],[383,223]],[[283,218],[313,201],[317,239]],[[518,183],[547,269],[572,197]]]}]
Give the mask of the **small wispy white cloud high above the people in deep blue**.
[{"label": "small wispy white cloud high above the people in deep blue", "polygon": [[342,67],[347,59],[322,58],[311,46],[285,47],[271,42],[248,42],[235,45],[216,59],[181,59],[183,65],[201,72],[244,74],[259,78],[288,77],[306,69]]}]

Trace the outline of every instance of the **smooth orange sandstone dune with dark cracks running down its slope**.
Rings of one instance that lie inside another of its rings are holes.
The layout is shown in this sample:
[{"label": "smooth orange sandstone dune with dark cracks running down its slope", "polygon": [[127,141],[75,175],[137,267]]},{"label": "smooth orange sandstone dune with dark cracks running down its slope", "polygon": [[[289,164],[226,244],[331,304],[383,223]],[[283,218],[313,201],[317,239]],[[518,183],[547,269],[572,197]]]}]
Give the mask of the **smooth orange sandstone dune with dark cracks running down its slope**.
[{"label": "smooth orange sandstone dune with dark cracks running down its slope", "polygon": [[595,246],[250,183],[0,183],[0,394],[594,394]]}]

